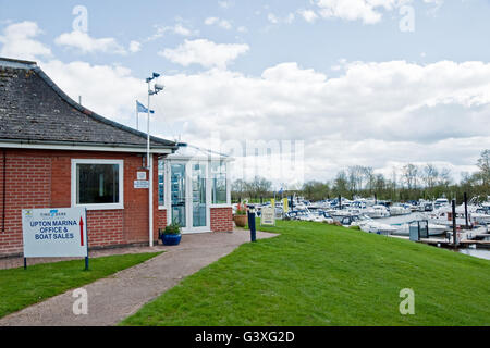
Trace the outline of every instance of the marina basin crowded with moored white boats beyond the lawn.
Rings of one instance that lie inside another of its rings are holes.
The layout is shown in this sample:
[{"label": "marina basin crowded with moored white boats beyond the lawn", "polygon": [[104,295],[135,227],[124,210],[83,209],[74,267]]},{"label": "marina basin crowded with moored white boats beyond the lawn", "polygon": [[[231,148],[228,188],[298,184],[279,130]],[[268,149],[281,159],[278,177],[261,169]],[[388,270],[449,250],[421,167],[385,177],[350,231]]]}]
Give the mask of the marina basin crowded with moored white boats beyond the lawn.
[{"label": "marina basin crowded with moored white boats beyond the lawn", "polygon": [[[448,248],[476,258],[490,259],[490,199],[471,199],[454,206],[446,198],[415,203],[390,203],[376,199],[342,197],[310,202],[302,197],[275,202],[277,219],[311,221],[357,227],[363,232]],[[260,217],[264,207],[254,204]],[[453,214],[453,211],[455,214]]]}]

